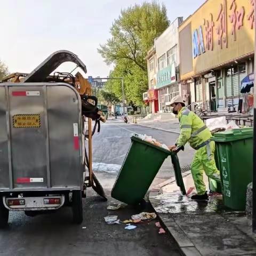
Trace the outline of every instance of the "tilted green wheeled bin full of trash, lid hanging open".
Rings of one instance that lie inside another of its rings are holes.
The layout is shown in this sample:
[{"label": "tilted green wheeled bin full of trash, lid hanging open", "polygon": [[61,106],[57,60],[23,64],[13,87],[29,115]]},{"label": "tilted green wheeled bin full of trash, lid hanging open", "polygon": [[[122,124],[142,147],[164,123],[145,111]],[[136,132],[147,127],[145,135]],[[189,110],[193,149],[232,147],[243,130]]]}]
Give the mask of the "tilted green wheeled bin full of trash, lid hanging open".
[{"label": "tilted green wheeled bin full of trash, lid hanging open", "polygon": [[113,198],[126,204],[139,204],[165,158],[170,155],[177,185],[181,188],[182,194],[186,194],[177,154],[143,141],[136,135],[133,135],[131,140],[131,146],[111,191]]}]

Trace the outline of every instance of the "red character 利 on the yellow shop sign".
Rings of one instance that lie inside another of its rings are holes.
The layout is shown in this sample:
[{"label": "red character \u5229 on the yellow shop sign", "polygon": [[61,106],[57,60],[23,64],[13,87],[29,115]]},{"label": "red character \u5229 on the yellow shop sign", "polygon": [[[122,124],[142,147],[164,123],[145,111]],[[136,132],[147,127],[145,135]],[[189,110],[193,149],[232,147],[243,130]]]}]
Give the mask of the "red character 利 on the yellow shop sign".
[{"label": "red character \u5229 on the yellow shop sign", "polygon": [[220,4],[217,22],[218,25],[216,31],[218,35],[218,44],[220,45],[220,49],[222,49],[222,45],[227,48],[227,0],[223,0],[223,4]]}]

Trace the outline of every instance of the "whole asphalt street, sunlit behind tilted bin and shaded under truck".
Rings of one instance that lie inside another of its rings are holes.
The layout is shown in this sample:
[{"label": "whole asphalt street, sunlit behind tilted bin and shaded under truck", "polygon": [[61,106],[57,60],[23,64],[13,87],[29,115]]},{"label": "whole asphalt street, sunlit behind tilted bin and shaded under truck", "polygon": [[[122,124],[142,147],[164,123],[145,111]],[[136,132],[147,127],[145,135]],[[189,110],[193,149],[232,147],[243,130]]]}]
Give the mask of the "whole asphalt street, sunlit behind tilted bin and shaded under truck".
[{"label": "whole asphalt street, sunlit behind tilted bin and shaded under truck", "polygon": [[[124,124],[121,120],[110,120],[103,124],[100,133],[93,137],[93,162],[102,163],[95,165],[98,166],[95,174],[105,188],[108,202],[103,202],[91,188],[88,189],[87,198],[83,200],[84,221],[81,225],[71,223],[69,207],[35,217],[27,217],[23,212],[11,212],[9,227],[0,232],[0,256],[180,255],[179,247],[169,233],[158,234],[159,228],[155,223],[159,219],[139,223],[134,230],[124,229],[123,223],[107,225],[103,219],[107,215],[118,215],[120,220],[125,220],[142,211],[154,212],[149,203],[146,208],[127,206],[117,211],[107,210],[108,204],[113,201],[110,191],[118,170],[111,173],[105,167],[100,170],[100,166],[121,166],[130,146],[132,132],[152,135],[166,145],[173,144],[178,135]],[[191,161],[192,156],[188,152],[192,153],[187,149],[187,153],[180,155],[184,165]],[[161,185],[172,176],[171,161],[167,159],[153,186]]]}]

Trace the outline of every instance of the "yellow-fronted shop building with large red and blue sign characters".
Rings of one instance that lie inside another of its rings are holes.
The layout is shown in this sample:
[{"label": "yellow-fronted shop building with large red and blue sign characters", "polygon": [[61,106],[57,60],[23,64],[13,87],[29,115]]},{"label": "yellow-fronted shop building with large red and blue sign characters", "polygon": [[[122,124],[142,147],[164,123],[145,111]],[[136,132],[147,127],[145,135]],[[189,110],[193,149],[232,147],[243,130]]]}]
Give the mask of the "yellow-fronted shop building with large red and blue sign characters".
[{"label": "yellow-fronted shop building with large red and blue sign characters", "polygon": [[254,17],[254,0],[208,0],[180,25],[180,77],[191,108],[248,110],[240,86],[253,73]]}]

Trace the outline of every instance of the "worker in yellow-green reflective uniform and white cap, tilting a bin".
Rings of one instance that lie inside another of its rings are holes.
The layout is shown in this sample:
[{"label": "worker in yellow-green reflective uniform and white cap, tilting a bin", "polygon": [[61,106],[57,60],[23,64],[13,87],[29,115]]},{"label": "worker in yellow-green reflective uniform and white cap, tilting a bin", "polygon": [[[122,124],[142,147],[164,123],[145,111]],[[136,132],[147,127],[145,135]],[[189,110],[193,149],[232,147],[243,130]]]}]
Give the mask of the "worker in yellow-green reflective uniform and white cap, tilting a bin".
[{"label": "worker in yellow-green reflective uniform and white cap, tilting a bin", "polygon": [[169,106],[173,108],[172,112],[177,115],[180,122],[179,138],[169,149],[177,151],[188,142],[196,150],[191,164],[191,174],[197,194],[191,196],[191,199],[207,200],[209,197],[203,180],[203,172],[208,177],[220,182],[220,172],[214,159],[215,142],[211,141],[211,132],[200,117],[185,107],[182,97],[172,98]]}]

